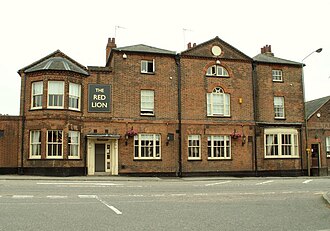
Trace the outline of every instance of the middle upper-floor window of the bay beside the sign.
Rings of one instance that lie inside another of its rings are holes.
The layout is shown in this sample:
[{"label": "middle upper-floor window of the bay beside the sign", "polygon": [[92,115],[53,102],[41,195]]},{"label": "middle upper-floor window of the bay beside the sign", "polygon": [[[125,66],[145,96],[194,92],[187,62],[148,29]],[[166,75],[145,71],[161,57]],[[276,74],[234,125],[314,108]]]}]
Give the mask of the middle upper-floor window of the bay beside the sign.
[{"label": "middle upper-floor window of the bay beside the sign", "polygon": [[63,108],[64,82],[48,82],[48,108]]}]

